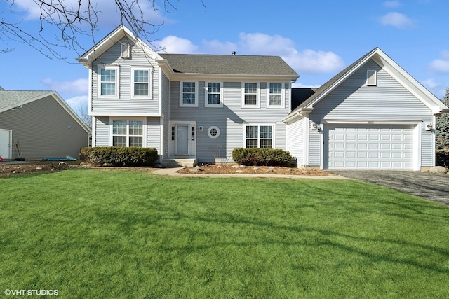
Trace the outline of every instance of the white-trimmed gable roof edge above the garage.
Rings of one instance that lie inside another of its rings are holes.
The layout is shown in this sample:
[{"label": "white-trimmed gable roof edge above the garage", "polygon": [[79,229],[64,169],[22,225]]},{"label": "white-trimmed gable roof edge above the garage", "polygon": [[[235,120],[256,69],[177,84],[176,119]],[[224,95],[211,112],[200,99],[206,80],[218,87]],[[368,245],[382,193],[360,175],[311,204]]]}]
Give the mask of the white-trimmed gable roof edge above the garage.
[{"label": "white-trimmed gable roof edge above the garage", "polygon": [[415,78],[410,76],[404,69],[402,69],[394,60],[385,54],[380,48],[375,48],[370,52],[366,53],[360,57],[356,62],[349,65],[346,69],[340,71],[337,75],[331,78],[328,82],[321,85],[321,87],[316,90],[314,95],[311,95],[306,101],[304,101],[300,106],[293,110],[284,120],[295,116],[301,111],[311,111],[317,102],[320,102],[326,97],[330,92],[335,90],[337,86],[342,84],[347,80],[352,74],[354,74],[358,69],[363,67],[368,61],[373,60],[382,67],[389,75],[391,75],[396,81],[401,83],[404,88],[411,92],[417,99],[426,105],[434,114],[449,112],[448,107],[446,107],[443,102],[441,102],[437,97],[435,97],[429,90],[424,88],[422,84],[417,82]]}]

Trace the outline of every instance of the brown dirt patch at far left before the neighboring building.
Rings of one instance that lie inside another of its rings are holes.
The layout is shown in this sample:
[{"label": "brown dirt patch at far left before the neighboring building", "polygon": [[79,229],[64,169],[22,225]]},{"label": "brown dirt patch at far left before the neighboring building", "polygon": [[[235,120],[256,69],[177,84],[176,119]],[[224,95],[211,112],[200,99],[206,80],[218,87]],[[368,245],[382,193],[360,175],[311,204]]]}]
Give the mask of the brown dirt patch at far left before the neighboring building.
[{"label": "brown dirt patch at far left before the neighboring building", "polygon": [[[79,162],[77,163],[79,164]],[[20,164],[1,164],[0,177],[15,176],[19,174],[41,174],[46,172],[58,172],[69,169],[73,165],[64,162],[36,162],[36,163],[20,163]]]}]

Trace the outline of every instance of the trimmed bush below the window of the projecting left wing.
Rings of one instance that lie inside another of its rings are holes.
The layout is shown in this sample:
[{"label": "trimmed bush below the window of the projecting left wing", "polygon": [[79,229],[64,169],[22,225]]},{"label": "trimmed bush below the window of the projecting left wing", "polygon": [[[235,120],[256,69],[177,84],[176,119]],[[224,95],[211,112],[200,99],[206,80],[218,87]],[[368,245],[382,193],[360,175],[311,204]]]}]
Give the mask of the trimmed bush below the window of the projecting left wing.
[{"label": "trimmed bush below the window of the projecting left wing", "polygon": [[81,155],[86,155],[93,164],[112,166],[152,166],[159,158],[156,148],[135,146],[83,148]]}]

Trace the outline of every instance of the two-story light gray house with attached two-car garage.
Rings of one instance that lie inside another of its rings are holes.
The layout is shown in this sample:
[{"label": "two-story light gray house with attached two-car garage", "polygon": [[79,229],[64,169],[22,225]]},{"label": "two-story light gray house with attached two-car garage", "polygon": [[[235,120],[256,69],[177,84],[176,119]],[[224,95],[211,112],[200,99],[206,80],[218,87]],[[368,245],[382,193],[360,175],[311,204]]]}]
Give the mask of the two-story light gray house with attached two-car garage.
[{"label": "two-story light gray house with attached two-car garage", "polygon": [[300,167],[421,169],[435,163],[434,116],[448,109],[378,48],[299,102],[280,57],[159,54],[123,26],[78,60],[93,146],[154,147],[161,162],[232,162],[234,148],[265,147]]}]

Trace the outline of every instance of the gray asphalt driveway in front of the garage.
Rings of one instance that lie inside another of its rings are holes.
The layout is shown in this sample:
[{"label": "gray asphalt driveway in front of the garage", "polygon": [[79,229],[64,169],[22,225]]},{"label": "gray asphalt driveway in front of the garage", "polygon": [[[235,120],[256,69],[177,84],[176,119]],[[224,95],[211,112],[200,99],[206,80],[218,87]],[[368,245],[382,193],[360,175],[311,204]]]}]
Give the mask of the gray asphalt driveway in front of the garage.
[{"label": "gray asphalt driveway in front of the garage", "polygon": [[379,170],[338,170],[330,172],[349,179],[375,183],[449,205],[449,174]]}]

